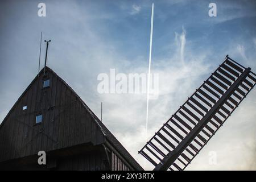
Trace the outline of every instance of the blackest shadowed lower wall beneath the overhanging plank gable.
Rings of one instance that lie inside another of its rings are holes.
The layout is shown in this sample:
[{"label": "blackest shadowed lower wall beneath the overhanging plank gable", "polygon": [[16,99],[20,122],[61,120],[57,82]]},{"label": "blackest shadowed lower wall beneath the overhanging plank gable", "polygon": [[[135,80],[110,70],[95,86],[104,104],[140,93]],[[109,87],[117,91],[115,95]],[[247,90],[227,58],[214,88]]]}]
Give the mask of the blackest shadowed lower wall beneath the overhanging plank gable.
[{"label": "blackest shadowed lower wall beneath the overhanging plank gable", "polygon": [[38,165],[38,156],[26,156],[22,159],[0,165],[0,170],[56,170],[56,171],[97,171],[108,170],[108,160],[102,145],[82,144],[48,152],[47,164]]}]

